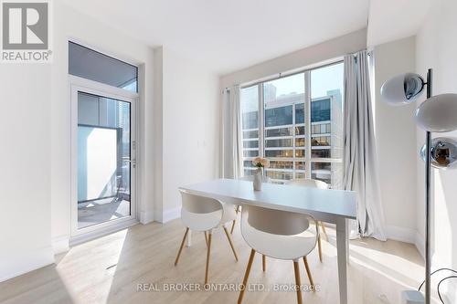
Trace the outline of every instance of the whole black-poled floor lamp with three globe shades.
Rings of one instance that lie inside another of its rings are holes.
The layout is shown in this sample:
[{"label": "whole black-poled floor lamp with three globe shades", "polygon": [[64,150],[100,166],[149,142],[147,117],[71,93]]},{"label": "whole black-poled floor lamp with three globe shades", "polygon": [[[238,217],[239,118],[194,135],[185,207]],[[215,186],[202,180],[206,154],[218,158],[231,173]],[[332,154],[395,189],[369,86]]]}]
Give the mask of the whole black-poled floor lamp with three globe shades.
[{"label": "whole black-poled floor lamp with three globe shades", "polygon": [[[427,87],[427,100],[416,110],[416,123],[426,133],[425,145],[420,154],[425,161],[425,303],[430,304],[430,168],[446,169],[457,163],[457,145],[449,138],[431,140],[431,132],[457,130],[457,94],[431,96],[432,70],[427,71],[427,81],[415,73],[406,73],[386,81],[381,87],[381,100],[391,105],[408,104]],[[410,301],[423,303],[419,291],[406,294]],[[405,297],[405,296],[403,296]]]}]

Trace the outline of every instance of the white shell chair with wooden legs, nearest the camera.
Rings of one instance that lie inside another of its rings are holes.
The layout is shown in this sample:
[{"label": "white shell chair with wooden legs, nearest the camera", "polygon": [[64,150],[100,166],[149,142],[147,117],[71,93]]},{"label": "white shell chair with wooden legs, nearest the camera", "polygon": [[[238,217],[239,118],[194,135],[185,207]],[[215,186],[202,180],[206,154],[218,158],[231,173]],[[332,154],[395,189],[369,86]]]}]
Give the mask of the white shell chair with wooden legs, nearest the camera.
[{"label": "white shell chair with wooden legs, nearest the camera", "polygon": [[[315,233],[311,232],[310,220],[316,226]],[[297,301],[302,303],[301,279],[299,260],[303,258],[304,267],[314,290],[314,282],[306,256],[313,251],[317,236],[317,222],[311,215],[273,210],[258,206],[245,205],[241,212],[241,235],[252,248],[246,273],[239,292],[240,304],[248,278],[250,267],[256,252],[273,258],[292,260],[297,288]]]}]

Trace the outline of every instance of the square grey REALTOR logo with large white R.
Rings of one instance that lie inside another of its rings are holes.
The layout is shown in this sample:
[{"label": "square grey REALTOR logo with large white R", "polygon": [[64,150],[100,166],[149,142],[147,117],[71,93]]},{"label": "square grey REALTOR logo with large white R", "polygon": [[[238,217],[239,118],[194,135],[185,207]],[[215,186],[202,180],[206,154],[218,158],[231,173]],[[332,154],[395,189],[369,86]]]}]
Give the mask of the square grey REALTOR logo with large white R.
[{"label": "square grey REALTOR logo with large white R", "polygon": [[49,3],[2,2],[2,61],[49,62]]}]

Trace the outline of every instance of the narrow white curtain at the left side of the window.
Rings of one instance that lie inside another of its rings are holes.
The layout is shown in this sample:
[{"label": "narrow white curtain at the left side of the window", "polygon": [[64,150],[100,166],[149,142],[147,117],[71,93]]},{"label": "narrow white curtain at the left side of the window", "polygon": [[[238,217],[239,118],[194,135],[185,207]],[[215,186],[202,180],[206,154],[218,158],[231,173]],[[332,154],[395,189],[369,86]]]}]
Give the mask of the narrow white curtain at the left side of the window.
[{"label": "narrow white curtain at the left side of the window", "polygon": [[239,178],[242,170],[239,86],[224,89],[222,102],[222,176]]}]

